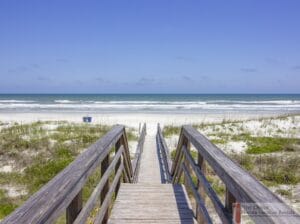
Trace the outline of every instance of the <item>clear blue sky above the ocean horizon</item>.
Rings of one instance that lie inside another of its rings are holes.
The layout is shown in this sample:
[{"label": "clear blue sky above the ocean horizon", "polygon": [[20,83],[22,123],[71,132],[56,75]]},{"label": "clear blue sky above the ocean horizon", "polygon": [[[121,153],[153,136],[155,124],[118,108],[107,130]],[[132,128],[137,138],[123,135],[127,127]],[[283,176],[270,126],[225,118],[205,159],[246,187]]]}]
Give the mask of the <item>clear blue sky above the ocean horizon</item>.
[{"label": "clear blue sky above the ocean horizon", "polygon": [[300,93],[299,0],[0,0],[0,93]]}]

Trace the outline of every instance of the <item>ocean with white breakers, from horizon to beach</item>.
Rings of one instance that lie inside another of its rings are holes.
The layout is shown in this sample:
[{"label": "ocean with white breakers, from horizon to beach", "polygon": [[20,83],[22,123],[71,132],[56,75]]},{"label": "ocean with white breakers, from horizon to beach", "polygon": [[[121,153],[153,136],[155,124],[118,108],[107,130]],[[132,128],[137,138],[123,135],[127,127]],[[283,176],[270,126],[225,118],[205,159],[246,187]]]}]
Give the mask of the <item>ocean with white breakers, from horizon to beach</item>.
[{"label": "ocean with white breakers, from horizon to beach", "polygon": [[7,112],[299,113],[300,94],[1,94]]}]

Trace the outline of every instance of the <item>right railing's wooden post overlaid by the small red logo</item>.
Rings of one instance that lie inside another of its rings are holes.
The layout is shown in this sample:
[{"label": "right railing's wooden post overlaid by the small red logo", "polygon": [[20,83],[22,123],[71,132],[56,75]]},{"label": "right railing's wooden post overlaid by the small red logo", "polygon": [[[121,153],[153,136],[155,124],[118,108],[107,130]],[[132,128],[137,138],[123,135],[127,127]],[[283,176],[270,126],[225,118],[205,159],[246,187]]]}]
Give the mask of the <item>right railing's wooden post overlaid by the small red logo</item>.
[{"label": "right railing's wooden post overlaid by the small red logo", "polygon": [[235,197],[231,194],[231,192],[226,188],[225,195],[225,208],[232,215],[232,221],[234,224],[241,223],[241,205],[235,199]]}]

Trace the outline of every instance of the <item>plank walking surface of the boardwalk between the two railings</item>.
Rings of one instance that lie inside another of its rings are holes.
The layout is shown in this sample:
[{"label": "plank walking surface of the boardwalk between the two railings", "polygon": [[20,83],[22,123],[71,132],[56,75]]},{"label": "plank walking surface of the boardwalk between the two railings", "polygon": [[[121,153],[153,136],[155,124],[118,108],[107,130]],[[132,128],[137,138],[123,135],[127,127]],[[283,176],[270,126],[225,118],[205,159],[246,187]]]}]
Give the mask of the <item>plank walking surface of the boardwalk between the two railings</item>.
[{"label": "plank walking surface of the boardwalk between the two railings", "polygon": [[184,186],[162,183],[155,136],[146,136],[138,183],[121,185],[108,223],[196,223]]}]

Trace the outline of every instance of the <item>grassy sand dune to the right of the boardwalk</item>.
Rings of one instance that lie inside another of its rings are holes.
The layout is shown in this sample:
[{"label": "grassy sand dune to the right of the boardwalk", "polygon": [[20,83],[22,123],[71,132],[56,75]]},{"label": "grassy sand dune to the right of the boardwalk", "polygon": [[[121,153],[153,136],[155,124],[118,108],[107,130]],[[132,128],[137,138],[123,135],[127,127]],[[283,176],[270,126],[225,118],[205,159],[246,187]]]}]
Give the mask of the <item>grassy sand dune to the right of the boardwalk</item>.
[{"label": "grassy sand dune to the right of the boardwalk", "polygon": [[[300,202],[300,116],[193,125],[287,203]],[[163,134],[175,149],[180,127],[166,126]],[[175,151],[172,152],[174,156]],[[192,153],[196,159],[196,153]],[[224,184],[208,170],[212,187],[224,197]],[[300,208],[298,208],[300,209]]]}]

